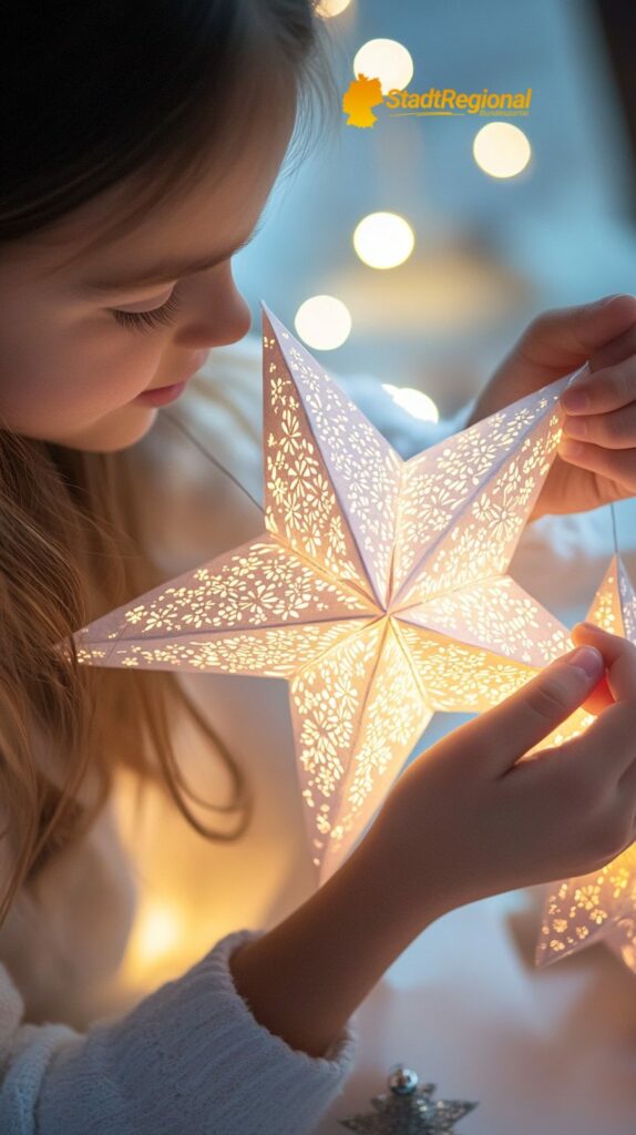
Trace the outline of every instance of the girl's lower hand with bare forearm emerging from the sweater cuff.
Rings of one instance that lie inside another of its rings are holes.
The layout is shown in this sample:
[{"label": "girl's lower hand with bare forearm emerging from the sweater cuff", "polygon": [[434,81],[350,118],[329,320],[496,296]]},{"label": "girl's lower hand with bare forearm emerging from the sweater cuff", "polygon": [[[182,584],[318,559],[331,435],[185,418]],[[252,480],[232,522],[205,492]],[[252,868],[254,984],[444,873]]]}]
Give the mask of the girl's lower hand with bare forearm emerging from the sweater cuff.
[{"label": "girl's lower hand with bare forearm emerging from the sweater cuff", "polygon": [[[339,871],[232,955],[236,987],[256,1020],[322,1056],[440,915],[585,874],[631,843],[636,649],[586,623],[574,634],[583,654],[548,666],[424,753]],[[519,760],[582,705],[600,714],[582,737]]]}]

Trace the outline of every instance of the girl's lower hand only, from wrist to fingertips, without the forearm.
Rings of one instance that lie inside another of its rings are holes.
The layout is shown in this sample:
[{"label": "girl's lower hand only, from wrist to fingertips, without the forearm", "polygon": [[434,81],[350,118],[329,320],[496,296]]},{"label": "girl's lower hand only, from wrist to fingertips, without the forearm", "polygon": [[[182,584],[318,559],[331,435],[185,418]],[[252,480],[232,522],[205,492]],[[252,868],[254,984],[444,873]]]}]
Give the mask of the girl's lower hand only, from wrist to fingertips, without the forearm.
[{"label": "girl's lower hand only, from wrist to fingertips, without the forearm", "polygon": [[[431,905],[443,914],[596,871],[636,839],[636,648],[587,623],[575,641],[425,751],[388,798],[371,842],[383,848],[387,885],[399,888],[400,873],[408,881],[415,923]],[[591,697],[605,666],[607,686]],[[605,708],[585,733],[518,763],[586,701]]]}]

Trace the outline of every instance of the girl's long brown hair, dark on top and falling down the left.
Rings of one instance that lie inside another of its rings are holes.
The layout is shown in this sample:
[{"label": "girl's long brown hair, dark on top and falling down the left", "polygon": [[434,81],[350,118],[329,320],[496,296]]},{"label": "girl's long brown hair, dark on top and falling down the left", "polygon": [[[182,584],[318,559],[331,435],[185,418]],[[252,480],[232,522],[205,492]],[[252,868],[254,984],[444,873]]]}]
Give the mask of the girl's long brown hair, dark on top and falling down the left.
[{"label": "girl's long brown hair, dark on top and falling down the left", "polygon": [[[295,100],[287,157],[303,158],[324,120],[315,111],[337,104],[315,2],[7,7],[0,249],[19,247],[124,178],[138,187],[133,208],[91,247],[129,230],[196,179],[211,146],[220,167],[231,161],[263,98],[272,112],[278,98]],[[86,453],[0,422],[0,813],[11,867],[0,923],[17,890],[87,831],[118,766],[135,771],[139,785],[162,784],[209,839],[234,839],[247,823],[243,773],[175,674],[83,666],[73,647],[79,627],[162,581],[136,515],[134,451]],[[202,801],[184,780],[170,740],[179,707],[227,763],[224,805]],[[229,814],[234,827],[207,826],[188,799]]]}]

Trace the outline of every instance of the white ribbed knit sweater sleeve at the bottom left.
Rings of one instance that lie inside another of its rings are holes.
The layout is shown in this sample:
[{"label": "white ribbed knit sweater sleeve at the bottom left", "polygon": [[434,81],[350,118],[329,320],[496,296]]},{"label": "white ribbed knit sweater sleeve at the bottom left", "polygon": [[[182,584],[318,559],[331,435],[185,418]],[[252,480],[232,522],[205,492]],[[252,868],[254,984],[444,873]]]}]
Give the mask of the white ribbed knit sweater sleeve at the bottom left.
[{"label": "white ribbed knit sweater sleeve at the bottom left", "polygon": [[0,967],[0,1130],[7,1135],[305,1135],[353,1065],[353,1026],[323,1057],[253,1017],[229,959],[262,931],[229,934],[176,981],[85,1034],[31,1025]]}]

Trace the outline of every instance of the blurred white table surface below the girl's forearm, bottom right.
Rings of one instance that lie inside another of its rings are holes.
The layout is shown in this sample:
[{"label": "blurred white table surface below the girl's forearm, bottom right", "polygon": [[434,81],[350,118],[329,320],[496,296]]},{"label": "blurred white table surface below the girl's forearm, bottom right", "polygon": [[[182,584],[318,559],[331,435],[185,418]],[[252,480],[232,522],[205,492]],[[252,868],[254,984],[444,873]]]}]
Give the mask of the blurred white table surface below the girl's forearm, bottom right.
[{"label": "blurred white table surface below the girl's forearm, bottom right", "polygon": [[344,1095],[316,1128],[371,1112],[404,1061],[435,1099],[480,1101],[464,1135],[634,1135],[636,977],[594,945],[537,970],[541,889],[447,915],[409,947],[357,1014]]}]

